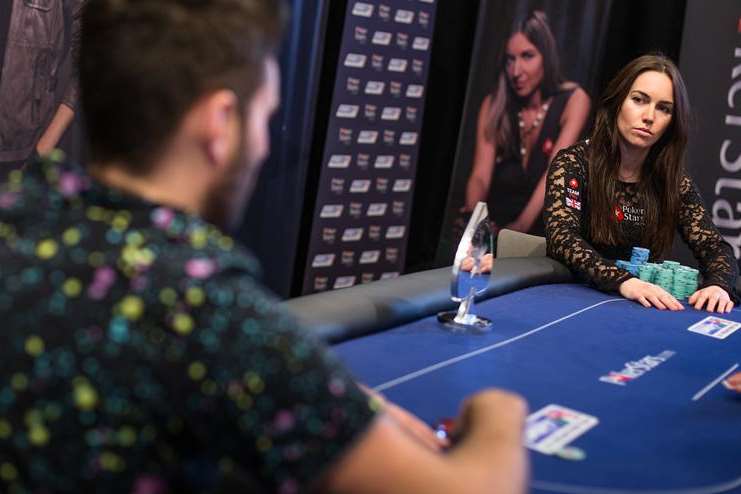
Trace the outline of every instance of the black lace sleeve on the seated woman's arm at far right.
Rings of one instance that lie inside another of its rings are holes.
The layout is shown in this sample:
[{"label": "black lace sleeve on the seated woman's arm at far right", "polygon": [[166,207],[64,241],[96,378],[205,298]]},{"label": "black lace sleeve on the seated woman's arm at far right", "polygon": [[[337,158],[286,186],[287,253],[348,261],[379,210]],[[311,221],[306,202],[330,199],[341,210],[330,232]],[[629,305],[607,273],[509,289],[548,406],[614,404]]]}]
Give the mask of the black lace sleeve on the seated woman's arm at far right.
[{"label": "black lace sleeve on the seated woman's arm at far right", "polygon": [[700,264],[703,278],[700,287],[718,285],[738,302],[735,295],[738,264],[733,256],[733,249],[718,233],[697,187],[687,176],[682,180],[681,193],[679,233]]}]

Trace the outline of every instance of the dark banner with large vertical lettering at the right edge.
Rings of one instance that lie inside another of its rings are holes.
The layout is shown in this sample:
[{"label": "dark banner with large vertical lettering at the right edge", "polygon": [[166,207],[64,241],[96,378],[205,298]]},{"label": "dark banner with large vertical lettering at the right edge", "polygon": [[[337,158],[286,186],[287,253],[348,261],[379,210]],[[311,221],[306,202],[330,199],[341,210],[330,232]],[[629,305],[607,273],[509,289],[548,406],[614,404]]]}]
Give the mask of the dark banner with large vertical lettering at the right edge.
[{"label": "dark banner with large vertical lettering at the right edge", "polygon": [[[689,0],[680,69],[693,110],[688,165],[713,222],[741,258],[741,2]],[[683,247],[676,256],[688,259]]]}]

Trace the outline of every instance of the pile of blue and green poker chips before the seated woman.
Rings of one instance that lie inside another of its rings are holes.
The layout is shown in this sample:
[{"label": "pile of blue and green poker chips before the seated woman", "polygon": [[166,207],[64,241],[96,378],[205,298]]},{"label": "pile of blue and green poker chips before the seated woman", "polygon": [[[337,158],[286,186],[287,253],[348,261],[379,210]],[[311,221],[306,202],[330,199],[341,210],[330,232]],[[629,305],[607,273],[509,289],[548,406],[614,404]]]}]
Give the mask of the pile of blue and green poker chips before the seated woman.
[{"label": "pile of blue and green poker chips before the seated woman", "polygon": [[648,262],[650,251],[633,247],[630,262],[619,260],[615,264],[643,281],[654,283],[678,300],[686,299],[698,286],[699,271],[682,266],[676,261],[664,261],[661,264]]}]

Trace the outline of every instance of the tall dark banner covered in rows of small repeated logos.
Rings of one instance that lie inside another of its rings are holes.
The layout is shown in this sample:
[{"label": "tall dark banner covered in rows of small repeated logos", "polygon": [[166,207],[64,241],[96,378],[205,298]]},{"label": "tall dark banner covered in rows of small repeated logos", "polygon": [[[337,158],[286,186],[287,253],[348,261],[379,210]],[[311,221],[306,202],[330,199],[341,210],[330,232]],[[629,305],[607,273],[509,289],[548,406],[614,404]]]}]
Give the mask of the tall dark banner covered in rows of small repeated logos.
[{"label": "tall dark banner covered in rows of small repeated logos", "polygon": [[435,7],[347,4],[304,294],[403,269]]}]

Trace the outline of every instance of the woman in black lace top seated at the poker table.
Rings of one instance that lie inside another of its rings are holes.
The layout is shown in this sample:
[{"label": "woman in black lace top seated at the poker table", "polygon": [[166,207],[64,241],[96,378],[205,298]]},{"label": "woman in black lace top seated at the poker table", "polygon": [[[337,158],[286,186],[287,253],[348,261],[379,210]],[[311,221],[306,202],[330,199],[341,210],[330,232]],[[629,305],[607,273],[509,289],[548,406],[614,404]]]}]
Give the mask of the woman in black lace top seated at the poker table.
[{"label": "woman in black lace top seated at the poker table", "polygon": [[689,101],[674,63],[660,55],[630,62],[610,82],[588,141],[563,150],[548,171],[548,255],[597,288],[646,307],[680,310],[668,292],[615,265],[631,248],[669,254],[674,232],[702,274],[689,298],[729,312],[738,267],[685,170]]}]

